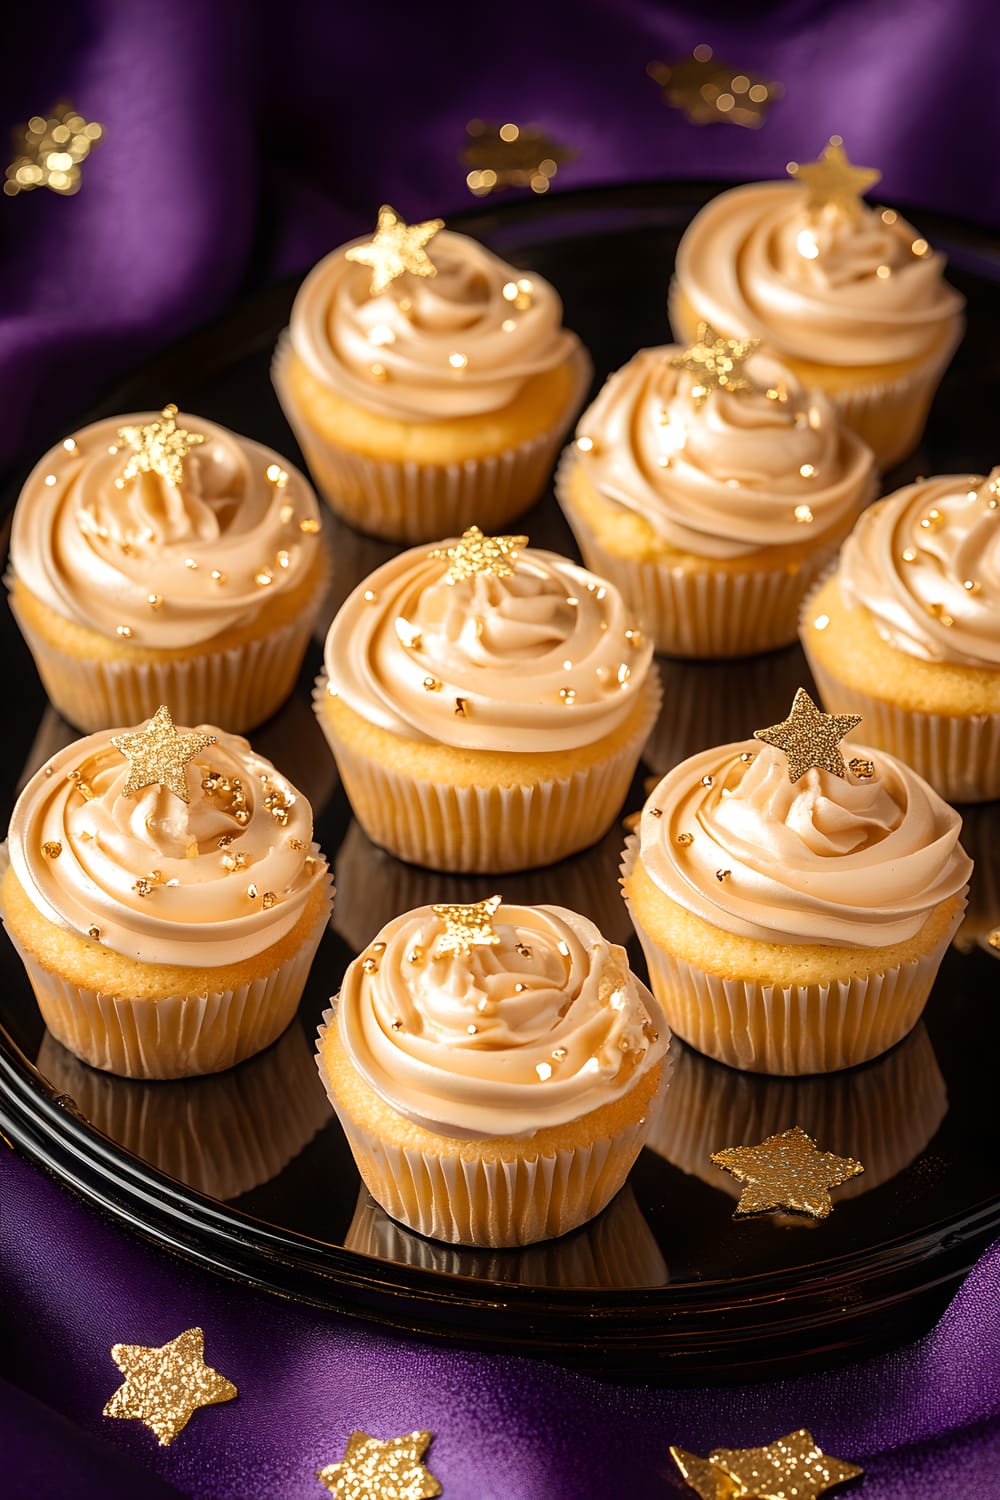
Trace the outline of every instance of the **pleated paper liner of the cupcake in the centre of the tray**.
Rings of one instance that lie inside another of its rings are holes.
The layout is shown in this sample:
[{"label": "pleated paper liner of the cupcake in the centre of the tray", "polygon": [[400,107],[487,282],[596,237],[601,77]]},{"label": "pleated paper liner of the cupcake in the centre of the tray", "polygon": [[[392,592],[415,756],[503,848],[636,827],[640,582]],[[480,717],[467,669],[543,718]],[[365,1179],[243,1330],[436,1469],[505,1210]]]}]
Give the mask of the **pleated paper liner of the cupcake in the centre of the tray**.
[{"label": "pleated paper liner of the cupcake in the centre of the tray", "polygon": [[418,780],[357,754],[336,735],[324,711],[325,693],[327,678],[321,674],[313,706],[364,832],[400,860],[453,873],[529,870],[595,843],[628,795],[660,710],[654,664],[636,732],[604,760],[531,786],[451,786]]}]

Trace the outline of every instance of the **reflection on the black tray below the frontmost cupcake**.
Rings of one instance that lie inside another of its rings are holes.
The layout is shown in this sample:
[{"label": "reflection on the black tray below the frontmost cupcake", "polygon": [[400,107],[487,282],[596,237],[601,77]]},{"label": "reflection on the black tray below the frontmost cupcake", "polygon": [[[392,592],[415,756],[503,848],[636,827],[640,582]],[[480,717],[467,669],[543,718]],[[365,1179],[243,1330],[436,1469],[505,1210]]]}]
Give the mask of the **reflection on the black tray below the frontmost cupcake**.
[{"label": "reflection on the black tray below the frontmost cupcake", "polygon": [[523,1250],[466,1250],[403,1228],[361,1188],[345,1250],[418,1270],[532,1287],[661,1287],[667,1263],[625,1184],[603,1214],[561,1239]]}]

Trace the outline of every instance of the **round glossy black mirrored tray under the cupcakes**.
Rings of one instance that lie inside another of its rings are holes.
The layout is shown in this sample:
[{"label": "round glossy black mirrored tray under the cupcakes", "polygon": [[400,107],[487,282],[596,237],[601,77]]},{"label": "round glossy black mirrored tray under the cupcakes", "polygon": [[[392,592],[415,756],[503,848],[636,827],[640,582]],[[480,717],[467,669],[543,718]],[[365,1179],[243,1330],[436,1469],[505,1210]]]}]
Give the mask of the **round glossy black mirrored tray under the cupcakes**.
[{"label": "round glossy black mirrored tray under the cupcakes", "polygon": [[[717,189],[642,186],[487,207],[462,226],[562,292],[597,376],[643,344],[666,342],[676,242]],[[918,214],[948,250],[969,298],[969,334],[934,404],[916,472],[984,471],[1000,458],[1000,255],[976,230]],[[90,416],[175,400],[297,458],[268,381],[294,286],[279,286],[169,350]],[[52,434],[52,438],[61,434]],[[6,513],[16,495],[7,495]],[[573,552],[546,496],[519,530]],[[334,584],[321,626],[390,555],[325,520]],[[6,550],[6,549],[4,549]],[[0,741],[6,807],[19,782],[75,738],[46,706],[12,620],[0,616],[9,702]],[[558,900],[625,942],[618,896],[624,834],[526,876],[436,876],[375,849],[352,822],[309,706],[313,642],[297,694],[253,735],[312,800],[336,866],[337,900],[298,1020],[228,1074],[133,1083],[76,1062],[45,1034],[19,963],[0,940],[0,1128],[28,1156],[123,1227],[223,1275],[318,1306],[466,1344],[672,1380],[768,1376],[874,1352],[928,1328],[973,1260],[1000,1234],[1000,804],[970,808],[978,860],[969,916],[925,1020],[886,1058],[840,1077],[748,1077],[673,1046],[673,1074],[649,1146],[592,1224],[523,1251],[435,1245],[393,1224],[360,1185],[325,1102],[312,1038],[351,957],[378,926],[421,902],[493,890]],[[643,780],[685,754],[783,717],[799,682],[796,648],[738,664],[661,663],[664,716]],[[633,963],[642,972],[637,944]],[[772,1215],[735,1222],[735,1184],[709,1162],[723,1146],[802,1125],[867,1172],[837,1191],[825,1222]]]}]

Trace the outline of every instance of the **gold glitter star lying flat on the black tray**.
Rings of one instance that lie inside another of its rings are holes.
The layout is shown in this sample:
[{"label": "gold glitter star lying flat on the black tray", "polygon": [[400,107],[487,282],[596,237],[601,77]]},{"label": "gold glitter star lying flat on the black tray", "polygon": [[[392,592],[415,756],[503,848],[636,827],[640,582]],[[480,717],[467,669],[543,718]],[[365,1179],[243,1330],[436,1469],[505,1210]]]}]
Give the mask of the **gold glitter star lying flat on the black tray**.
[{"label": "gold glitter star lying flat on the black tray", "polygon": [[747,1184],[733,1218],[789,1209],[826,1218],[832,1210],[829,1188],[838,1188],[865,1168],[853,1156],[817,1150],[816,1142],[801,1125],[768,1136],[759,1146],[727,1146],[714,1150],[712,1161]]}]

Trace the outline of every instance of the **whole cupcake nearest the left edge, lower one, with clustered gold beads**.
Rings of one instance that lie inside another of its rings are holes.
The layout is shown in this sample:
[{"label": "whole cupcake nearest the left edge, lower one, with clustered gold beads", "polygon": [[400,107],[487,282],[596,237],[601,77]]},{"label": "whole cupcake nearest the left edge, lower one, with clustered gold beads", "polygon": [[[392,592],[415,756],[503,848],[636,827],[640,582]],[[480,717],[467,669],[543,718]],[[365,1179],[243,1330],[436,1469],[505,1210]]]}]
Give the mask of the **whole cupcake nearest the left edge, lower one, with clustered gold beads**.
[{"label": "whole cupcake nearest the left edge, lower one, with clustered gold beads", "polygon": [[330,912],[312,813],[246,740],[148,723],[31,777],[0,908],[57,1041],[132,1078],[216,1072],[295,1014]]}]

